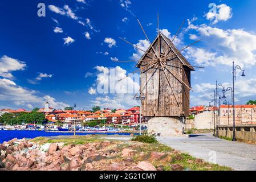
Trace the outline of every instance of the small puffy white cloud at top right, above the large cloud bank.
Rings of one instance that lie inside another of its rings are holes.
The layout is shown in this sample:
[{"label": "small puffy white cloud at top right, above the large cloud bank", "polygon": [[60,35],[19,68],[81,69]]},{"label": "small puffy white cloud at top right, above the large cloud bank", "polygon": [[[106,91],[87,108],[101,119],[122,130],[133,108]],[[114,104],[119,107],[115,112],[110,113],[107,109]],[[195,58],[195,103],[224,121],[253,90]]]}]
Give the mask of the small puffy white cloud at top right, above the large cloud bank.
[{"label": "small puffy white cloud at top right, above the large cloud bank", "polygon": [[230,18],[232,18],[232,9],[231,7],[225,5],[225,4],[222,4],[222,5],[218,5],[217,6],[217,11],[216,14],[214,14],[214,12],[209,12],[207,13],[205,16],[206,16],[206,19],[208,20],[214,20],[212,23],[213,24],[216,24],[218,23],[219,21],[226,21]]}]

